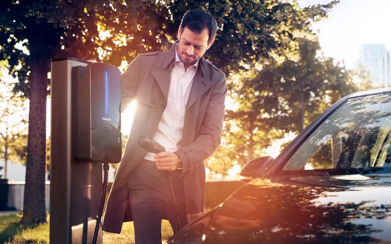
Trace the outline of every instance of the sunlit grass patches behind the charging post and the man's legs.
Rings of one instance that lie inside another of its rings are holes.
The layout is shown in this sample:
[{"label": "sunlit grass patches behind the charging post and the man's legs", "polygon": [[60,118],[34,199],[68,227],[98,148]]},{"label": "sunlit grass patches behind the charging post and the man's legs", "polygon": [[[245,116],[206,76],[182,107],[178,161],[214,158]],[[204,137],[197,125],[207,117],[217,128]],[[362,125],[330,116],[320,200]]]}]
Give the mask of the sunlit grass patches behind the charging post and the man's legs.
[{"label": "sunlit grass patches behind the charging post and the man's legs", "polygon": [[[19,215],[0,216],[0,243],[27,244],[49,243],[49,216],[48,223],[39,225],[21,225]],[[162,221],[162,239],[168,239],[172,229],[168,221]],[[103,243],[134,243],[133,223],[125,223],[121,234],[103,232]]]}]

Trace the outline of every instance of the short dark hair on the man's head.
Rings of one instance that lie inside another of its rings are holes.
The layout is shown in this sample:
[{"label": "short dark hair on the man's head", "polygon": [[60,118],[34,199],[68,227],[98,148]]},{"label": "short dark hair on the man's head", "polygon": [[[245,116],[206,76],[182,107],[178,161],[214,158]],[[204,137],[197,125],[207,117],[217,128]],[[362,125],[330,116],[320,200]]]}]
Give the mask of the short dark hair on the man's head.
[{"label": "short dark hair on the man's head", "polygon": [[213,16],[202,10],[193,9],[188,10],[181,21],[181,31],[186,28],[190,29],[193,33],[199,35],[205,28],[209,31],[208,44],[216,36],[217,32],[217,21]]}]

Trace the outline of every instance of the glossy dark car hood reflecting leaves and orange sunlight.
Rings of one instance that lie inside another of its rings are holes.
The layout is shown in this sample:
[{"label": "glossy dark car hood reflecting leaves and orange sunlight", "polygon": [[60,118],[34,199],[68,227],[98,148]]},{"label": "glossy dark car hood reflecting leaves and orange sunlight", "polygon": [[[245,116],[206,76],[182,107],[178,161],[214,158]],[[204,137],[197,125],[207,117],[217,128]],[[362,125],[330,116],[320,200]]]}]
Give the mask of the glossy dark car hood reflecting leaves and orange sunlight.
[{"label": "glossy dark car hood reflecting leaves and orange sunlight", "polygon": [[257,178],[169,243],[391,243],[391,174]]}]

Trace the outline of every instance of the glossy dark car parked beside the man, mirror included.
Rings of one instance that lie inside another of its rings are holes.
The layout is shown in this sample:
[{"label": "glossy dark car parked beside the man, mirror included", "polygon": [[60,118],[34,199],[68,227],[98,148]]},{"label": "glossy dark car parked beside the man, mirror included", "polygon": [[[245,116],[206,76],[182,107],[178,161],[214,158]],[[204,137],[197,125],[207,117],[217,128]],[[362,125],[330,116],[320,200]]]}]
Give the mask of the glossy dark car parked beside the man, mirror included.
[{"label": "glossy dark car parked beside the man, mirror included", "polygon": [[391,243],[391,88],[349,95],[168,243]]}]

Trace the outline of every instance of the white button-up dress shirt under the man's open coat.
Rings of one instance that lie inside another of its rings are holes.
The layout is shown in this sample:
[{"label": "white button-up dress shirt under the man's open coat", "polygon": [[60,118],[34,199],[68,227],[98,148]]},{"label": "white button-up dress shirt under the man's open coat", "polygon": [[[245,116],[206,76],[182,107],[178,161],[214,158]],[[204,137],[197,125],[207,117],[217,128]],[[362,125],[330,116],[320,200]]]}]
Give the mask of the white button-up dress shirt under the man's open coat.
[{"label": "white button-up dress shirt under the man's open coat", "polygon": [[[175,49],[175,63],[171,71],[167,106],[153,138],[163,145],[166,151],[171,151],[172,153],[178,150],[178,144],[182,141],[185,108],[198,64],[199,60],[187,68],[185,72],[183,63],[179,60],[177,50]],[[154,156],[155,154],[153,153],[147,153],[144,159],[153,161]]]}]

